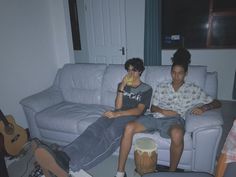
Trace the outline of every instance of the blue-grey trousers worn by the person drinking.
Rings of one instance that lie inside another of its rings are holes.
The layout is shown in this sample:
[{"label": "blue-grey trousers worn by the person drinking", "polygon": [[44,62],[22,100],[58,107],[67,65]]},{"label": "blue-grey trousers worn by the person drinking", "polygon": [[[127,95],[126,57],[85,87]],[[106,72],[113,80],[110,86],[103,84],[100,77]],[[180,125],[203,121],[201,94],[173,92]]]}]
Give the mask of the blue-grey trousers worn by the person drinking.
[{"label": "blue-grey trousers worn by the person drinking", "polygon": [[63,151],[70,157],[73,171],[88,170],[109,157],[120,145],[125,125],[135,116],[115,119],[100,117]]}]

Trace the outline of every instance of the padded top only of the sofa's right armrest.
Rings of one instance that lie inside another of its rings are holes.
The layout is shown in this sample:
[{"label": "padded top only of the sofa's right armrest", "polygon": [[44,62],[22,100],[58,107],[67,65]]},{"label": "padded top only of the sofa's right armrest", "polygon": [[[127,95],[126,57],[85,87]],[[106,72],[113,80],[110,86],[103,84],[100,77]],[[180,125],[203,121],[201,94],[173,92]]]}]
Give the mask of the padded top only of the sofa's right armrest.
[{"label": "padded top only of the sofa's right armrest", "polygon": [[204,112],[202,115],[193,115],[188,111],[185,115],[186,132],[194,132],[200,128],[216,127],[223,125],[221,109],[213,109]]}]

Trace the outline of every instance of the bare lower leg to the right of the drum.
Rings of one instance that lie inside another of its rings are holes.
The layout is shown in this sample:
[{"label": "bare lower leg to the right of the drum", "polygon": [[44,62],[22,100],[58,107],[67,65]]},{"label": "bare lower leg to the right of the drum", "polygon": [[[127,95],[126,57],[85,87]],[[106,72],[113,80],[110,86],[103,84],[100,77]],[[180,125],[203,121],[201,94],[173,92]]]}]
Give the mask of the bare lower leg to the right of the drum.
[{"label": "bare lower leg to the right of the drum", "polygon": [[170,130],[170,169],[176,171],[184,148],[184,131],[180,126],[174,126]]}]

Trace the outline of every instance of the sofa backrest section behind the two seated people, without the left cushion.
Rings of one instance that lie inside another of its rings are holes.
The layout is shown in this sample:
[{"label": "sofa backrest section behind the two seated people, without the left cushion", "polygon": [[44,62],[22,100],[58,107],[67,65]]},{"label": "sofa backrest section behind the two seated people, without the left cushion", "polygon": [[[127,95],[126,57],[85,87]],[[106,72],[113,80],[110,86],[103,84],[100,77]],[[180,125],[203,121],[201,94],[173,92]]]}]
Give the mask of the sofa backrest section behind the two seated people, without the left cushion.
[{"label": "sofa backrest section behind the two seated people, without the left cushion", "polygon": [[[147,66],[141,79],[151,85],[154,91],[159,82],[171,80],[170,71],[171,66]],[[101,104],[114,106],[117,85],[125,74],[126,71],[123,65],[112,64],[107,66],[103,78]],[[217,73],[208,73],[206,66],[189,66],[185,80],[200,86],[213,98],[216,97]]]}]

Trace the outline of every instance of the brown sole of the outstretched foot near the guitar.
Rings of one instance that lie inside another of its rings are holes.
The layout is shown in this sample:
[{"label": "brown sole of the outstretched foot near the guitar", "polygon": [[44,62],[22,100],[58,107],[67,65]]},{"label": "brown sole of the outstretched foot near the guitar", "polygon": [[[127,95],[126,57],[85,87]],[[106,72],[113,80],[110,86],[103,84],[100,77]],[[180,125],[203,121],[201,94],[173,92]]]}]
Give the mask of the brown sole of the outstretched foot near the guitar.
[{"label": "brown sole of the outstretched foot near the guitar", "polygon": [[57,177],[68,177],[68,173],[57,164],[54,157],[44,148],[39,147],[35,150],[35,158],[43,169],[45,176],[50,171]]}]

